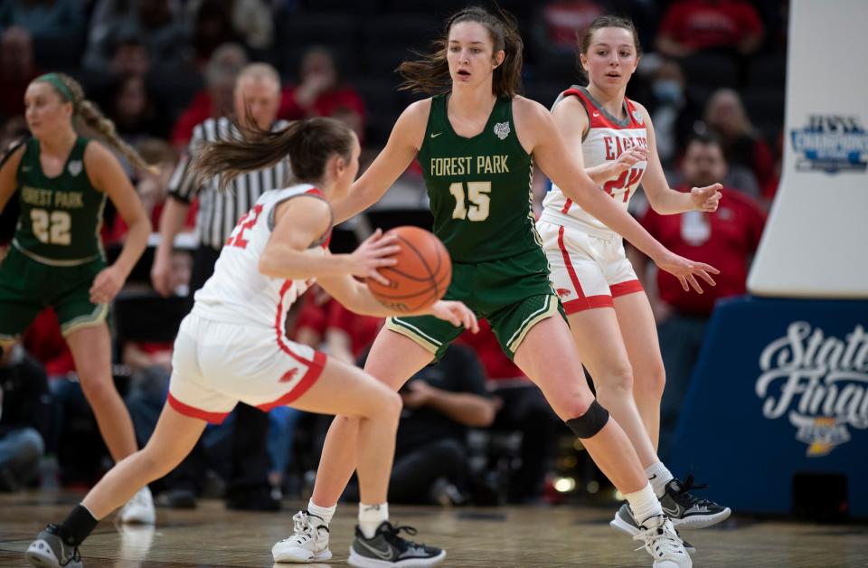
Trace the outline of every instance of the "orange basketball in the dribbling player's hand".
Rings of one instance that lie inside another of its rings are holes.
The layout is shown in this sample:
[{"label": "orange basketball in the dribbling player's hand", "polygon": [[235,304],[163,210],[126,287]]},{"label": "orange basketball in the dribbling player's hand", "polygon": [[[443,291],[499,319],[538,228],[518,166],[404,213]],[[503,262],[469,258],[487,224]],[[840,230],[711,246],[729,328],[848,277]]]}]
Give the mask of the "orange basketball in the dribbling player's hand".
[{"label": "orange basketball in the dribbling player's hand", "polygon": [[388,286],[367,279],[373,296],[397,312],[427,308],[443,298],[452,279],[452,261],[443,243],[419,227],[395,227],[386,235],[398,237],[396,244],[401,251],[394,255],[397,264],[380,269],[389,280]]}]

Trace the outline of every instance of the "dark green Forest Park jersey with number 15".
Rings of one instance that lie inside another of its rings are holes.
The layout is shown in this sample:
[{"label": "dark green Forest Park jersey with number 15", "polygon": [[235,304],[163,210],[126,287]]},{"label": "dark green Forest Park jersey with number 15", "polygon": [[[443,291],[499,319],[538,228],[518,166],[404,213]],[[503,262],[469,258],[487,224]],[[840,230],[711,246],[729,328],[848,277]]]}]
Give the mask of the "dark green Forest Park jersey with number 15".
[{"label": "dark green Forest Park jersey with number 15", "polygon": [[434,214],[434,234],[456,262],[482,262],[539,249],[533,223],[533,156],[515,135],[513,101],[495,102],[486,128],[460,137],[447,95],[431,99],[419,161]]}]

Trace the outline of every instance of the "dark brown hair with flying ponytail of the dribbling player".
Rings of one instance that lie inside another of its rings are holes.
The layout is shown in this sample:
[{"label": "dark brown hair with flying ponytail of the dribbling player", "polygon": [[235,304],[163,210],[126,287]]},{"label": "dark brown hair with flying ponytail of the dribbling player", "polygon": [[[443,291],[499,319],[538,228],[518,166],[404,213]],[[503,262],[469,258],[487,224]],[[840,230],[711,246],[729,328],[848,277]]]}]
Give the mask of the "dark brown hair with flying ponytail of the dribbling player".
[{"label": "dark brown hair with flying ponytail of the dribbling player", "polygon": [[263,130],[252,120],[243,126],[232,121],[232,126],[239,137],[205,142],[197,148],[191,165],[193,185],[219,176],[219,188],[225,191],[239,175],[275,166],[287,157],[292,182],[316,182],[331,156],[349,161],[353,153],[353,130],[335,118],[296,120],[277,132]]}]

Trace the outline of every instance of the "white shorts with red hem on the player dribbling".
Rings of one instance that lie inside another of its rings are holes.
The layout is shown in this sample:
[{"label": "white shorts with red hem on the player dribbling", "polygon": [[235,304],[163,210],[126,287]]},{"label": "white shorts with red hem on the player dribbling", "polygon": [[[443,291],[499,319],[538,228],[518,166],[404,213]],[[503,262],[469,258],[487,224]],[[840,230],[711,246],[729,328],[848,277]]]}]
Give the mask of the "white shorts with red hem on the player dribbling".
[{"label": "white shorts with red hem on the player dribbling", "polygon": [[175,339],[168,402],[186,416],[220,423],[239,401],[269,411],[307,392],[325,355],[278,328],[184,317]]}]

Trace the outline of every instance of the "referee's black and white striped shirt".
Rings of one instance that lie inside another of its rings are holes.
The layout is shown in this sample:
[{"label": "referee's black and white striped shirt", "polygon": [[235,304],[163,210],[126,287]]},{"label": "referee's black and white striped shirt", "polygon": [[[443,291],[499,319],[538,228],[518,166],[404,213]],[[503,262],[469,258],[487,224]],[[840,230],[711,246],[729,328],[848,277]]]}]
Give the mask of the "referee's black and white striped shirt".
[{"label": "referee's black and white striped shirt", "polygon": [[[286,120],[278,120],[272,125],[271,131],[282,130],[287,125]],[[241,215],[247,213],[262,192],[286,187],[288,184],[288,161],[284,161],[277,166],[239,175],[225,192],[217,189],[217,178],[209,179],[201,187],[193,187],[192,175],[188,174],[188,170],[190,156],[195,153],[196,146],[202,141],[212,142],[235,136],[237,134],[229,118],[208,118],[202,124],[196,125],[186,156],[175,168],[169,181],[169,194],[175,199],[189,204],[196,196],[199,197],[199,213],[196,216],[199,244],[215,250],[222,248],[223,242],[229,238]]]}]

